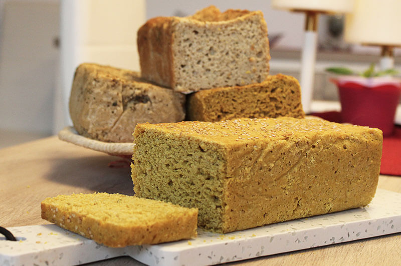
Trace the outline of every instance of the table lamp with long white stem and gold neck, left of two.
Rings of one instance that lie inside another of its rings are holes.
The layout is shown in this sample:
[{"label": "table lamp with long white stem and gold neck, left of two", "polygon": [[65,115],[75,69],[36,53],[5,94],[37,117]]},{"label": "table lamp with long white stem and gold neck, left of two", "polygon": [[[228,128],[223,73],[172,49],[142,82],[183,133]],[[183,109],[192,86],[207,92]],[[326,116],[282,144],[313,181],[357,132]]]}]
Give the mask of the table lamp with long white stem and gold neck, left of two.
[{"label": "table lamp with long white stem and gold neck, left of two", "polygon": [[302,106],[310,112],[315,73],[318,15],[349,13],[353,11],[353,0],[272,0],[276,9],[305,13],[305,37],[301,55],[300,84]]}]

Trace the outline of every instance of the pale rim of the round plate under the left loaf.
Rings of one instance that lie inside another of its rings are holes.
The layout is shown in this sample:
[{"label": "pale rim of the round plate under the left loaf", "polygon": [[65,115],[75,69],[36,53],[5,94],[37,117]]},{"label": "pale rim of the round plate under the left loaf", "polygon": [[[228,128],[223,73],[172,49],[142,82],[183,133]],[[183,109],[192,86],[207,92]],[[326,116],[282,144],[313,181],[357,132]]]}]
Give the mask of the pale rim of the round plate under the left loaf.
[{"label": "pale rim of the round plate under the left loaf", "polygon": [[58,136],[61,140],[95,151],[105,152],[113,156],[131,157],[133,153],[134,143],[103,142],[86,138],[78,134],[74,127],[71,126],[61,130]]}]

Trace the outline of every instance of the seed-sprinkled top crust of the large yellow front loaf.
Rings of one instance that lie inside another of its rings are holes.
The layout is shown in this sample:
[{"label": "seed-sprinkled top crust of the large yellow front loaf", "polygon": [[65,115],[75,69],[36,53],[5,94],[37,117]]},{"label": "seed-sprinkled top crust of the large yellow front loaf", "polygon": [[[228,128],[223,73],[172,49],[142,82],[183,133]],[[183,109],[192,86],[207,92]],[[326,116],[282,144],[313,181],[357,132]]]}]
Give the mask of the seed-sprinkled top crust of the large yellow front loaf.
[{"label": "seed-sprinkled top crust of the large yellow front loaf", "polygon": [[377,128],[343,125],[321,119],[239,118],[218,122],[182,121],[178,123],[138,124],[134,135],[145,130],[165,132],[173,136],[193,138],[221,147],[241,146],[244,143],[287,140],[289,137],[308,138],[319,134],[336,133],[343,137],[361,134],[380,139],[382,132]]}]

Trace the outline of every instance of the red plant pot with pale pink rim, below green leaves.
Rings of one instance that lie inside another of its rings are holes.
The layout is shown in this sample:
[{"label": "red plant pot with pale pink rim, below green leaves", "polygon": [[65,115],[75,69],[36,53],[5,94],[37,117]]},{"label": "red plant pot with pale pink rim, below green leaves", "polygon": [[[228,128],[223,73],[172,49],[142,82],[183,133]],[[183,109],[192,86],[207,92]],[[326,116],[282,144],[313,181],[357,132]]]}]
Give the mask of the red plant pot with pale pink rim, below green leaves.
[{"label": "red plant pot with pale pink rim, below green leaves", "polygon": [[401,95],[401,80],[392,78],[339,78],[342,122],[394,131],[395,111]]}]

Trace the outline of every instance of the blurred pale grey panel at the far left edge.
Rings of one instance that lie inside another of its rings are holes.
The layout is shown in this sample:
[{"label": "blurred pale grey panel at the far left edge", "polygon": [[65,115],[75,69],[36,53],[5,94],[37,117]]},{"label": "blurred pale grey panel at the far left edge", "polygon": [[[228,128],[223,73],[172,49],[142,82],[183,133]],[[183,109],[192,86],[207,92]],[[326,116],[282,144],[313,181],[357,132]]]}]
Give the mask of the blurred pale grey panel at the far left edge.
[{"label": "blurred pale grey panel at the far left edge", "polygon": [[56,1],[3,1],[0,129],[51,133],[58,49]]}]

